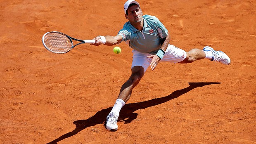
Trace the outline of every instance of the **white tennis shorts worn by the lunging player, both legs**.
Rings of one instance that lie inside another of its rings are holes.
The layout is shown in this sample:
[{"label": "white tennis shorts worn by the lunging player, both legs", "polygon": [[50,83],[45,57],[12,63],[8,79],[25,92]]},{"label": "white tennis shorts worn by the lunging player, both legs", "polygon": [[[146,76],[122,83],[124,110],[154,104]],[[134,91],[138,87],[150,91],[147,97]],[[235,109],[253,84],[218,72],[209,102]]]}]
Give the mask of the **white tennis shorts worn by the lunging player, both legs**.
[{"label": "white tennis shorts worn by the lunging player, both legs", "polygon": [[[144,68],[144,72],[149,67],[152,58],[148,58],[152,54],[149,53],[141,53],[133,50],[133,64],[134,66],[142,66]],[[164,58],[160,60],[160,62],[170,62],[170,63],[178,63],[183,61],[187,57],[187,53],[174,45],[168,45],[167,50],[165,51]]]}]

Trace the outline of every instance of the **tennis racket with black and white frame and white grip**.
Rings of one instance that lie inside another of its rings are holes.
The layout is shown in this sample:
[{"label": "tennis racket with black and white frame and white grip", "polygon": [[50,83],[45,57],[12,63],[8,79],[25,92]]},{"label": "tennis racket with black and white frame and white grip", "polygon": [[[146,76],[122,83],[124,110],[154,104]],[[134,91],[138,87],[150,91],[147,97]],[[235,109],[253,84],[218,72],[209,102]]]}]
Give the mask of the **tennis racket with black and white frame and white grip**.
[{"label": "tennis racket with black and white frame and white grip", "polygon": [[[80,43],[73,45],[72,40],[76,40]],[[82,43],[93,43],[95,40],[78,40],[58,31],[50,31],[43,35],[42,42],[44,47],[50,52],[64,54],[77,45]]]}]

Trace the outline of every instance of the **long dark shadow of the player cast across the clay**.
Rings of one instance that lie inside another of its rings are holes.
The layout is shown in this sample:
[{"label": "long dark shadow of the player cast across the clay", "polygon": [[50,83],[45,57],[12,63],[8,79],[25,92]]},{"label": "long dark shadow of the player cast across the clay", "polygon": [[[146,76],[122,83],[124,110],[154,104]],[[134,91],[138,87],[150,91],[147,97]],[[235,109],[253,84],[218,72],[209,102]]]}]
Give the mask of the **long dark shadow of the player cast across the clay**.
[{"label": "long dark shadow of the player cast across the clay", "polygon": [[[121,112],[120,112],[120,116],[119,116],[119,121],[124,121],[126,124],[130,123],[131,121],[133,121],[135,118],[137,118],[137,113],[134,113],[135,111],[139,110],[139,109],[146,109],[148,107],[151,106],[156,106],[158,104],[163,104],[165,102],[168,102],[172,99],[175,99],[177,97],[180,97],[181,95],[189,92],[190,90],[193,90],[194,88],[197,87],[203,87],[205,85],[213,85],[213,84],[220,84],[220,83],[188,83],[190,86],[186,87],[184,89],[181,90],[176,90],[174,92],[172,92],[171,94],[169,94],[166,97],[160,97],[160,98],[156,98],[156,99],[151,99],[148,101],[144,101],[144,102],[137,102],[137,103],[132,103],[132,104],[126,104],[123,106]],[[95,113],[94,116],[86,119],[86,120],[76,120],[73,122],[73,124],[76,125],[76,128],[72,131],[72,132],[68,132],[62,136],[60,136],[59,138],[53,140],[52,142],[49,142],[47,144],[57,144],[57,142],[62,141],[63,139],[66,139],[68,137],[71,137],[73,135],[76,135],[78,132],[81,132],[82,130],[84,130],[87,127],[91,127],[97,124],[102,124],[105,123],[106,121],[106,117],[109,114],[109,112],[111,111],[112,107],[109,107],[107,109],[102,109],[101,111],[98,111],[97,113]]]}]

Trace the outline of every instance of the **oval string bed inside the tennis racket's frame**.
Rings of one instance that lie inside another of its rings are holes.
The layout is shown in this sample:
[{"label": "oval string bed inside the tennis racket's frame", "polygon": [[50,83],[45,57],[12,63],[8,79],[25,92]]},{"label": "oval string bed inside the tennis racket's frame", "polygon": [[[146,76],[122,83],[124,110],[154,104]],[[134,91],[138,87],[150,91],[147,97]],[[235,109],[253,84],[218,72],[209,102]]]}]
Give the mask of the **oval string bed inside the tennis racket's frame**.
[{"label": "oval string bed inside the tennis racket's frame", "polygon": [[72,40],[61,33],[47,33],[44,37],[46,47],[58,53],[65,53],[72,49]]}]

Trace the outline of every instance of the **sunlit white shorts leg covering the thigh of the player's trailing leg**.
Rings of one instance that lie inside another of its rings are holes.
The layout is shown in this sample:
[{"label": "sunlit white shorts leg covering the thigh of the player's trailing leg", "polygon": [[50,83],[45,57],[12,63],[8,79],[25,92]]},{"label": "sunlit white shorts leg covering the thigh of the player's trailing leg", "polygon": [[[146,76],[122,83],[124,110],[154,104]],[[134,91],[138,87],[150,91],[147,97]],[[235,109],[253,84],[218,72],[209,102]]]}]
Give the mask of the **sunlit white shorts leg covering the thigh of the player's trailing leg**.
[{"label": "sunlit white shorts leg covering the thigh of the player's trailing leg", "polygon": [[187,52],[182,50],[174,45],[168,45],[168,48],[164,54],[164,58],[161,61],[171,62],[171,63],[178,63],[186,59]]}]

